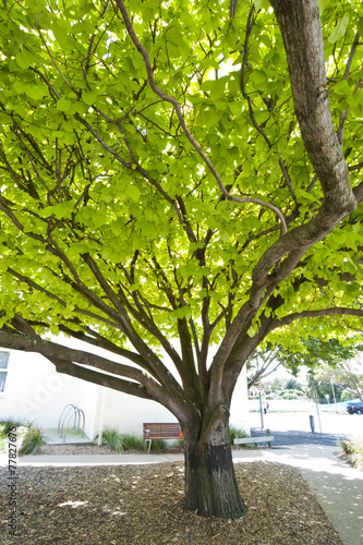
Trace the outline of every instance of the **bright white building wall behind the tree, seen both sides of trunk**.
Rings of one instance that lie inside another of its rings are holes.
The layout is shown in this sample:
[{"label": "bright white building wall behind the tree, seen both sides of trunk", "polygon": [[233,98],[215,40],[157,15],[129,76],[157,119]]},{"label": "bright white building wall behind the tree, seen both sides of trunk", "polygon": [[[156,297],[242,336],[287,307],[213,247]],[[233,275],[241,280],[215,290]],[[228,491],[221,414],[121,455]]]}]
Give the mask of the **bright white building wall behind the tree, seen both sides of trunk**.
[{"label": "bright white building wall behind the tree, seen both sides of trunk", "polygon": [[[159,403],[59,374],[39,354],[9,352],[8,379],[0,393],[0,420],[15,417],[34,422],[43,429],[57,428],[63,409],[72,403],[84,411],[85,433],[90,439],[105,427],[142,435],[144,422],[176,421]],[[242,373],[232,399],[231,423],[249,429],[247,415],[246,379]]]}]

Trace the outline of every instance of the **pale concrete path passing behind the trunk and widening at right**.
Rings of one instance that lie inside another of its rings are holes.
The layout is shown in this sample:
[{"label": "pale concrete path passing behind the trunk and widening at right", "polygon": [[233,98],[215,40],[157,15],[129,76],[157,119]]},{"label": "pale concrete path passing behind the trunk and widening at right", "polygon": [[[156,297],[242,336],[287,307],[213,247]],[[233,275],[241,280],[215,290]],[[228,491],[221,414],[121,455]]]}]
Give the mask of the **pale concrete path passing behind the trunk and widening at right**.
[{"label": "pale concrete path passing behind the trunk and widening at right", "polygon": [[[271,461],[293,465],[307,481],[311,491],[338,531],[344,545],[363,545],[363,472],[354,470],[334,455],[337,447],[292,445],[273,449],[234,450],[239,462]],[[19,467],[32,465],[124,465],[183,461],[180,455],[94,455],[27,456]],[[8,463],[0,457],[0,464]],[[268,483],[267,483],[268,484]]]}]

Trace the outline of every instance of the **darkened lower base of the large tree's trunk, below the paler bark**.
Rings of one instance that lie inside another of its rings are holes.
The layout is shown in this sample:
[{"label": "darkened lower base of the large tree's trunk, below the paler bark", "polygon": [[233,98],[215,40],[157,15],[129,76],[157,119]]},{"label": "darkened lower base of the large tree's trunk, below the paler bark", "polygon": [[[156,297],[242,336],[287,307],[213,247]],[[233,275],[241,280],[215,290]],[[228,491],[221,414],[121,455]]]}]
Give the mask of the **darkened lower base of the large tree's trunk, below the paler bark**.
[{"label": "darkened lower base of the large tree's trunk, below the paler bark", "polygon": [[184,509],[202,517],[239,519],[247,510],[235,481],[229,444],[185,445]]}]

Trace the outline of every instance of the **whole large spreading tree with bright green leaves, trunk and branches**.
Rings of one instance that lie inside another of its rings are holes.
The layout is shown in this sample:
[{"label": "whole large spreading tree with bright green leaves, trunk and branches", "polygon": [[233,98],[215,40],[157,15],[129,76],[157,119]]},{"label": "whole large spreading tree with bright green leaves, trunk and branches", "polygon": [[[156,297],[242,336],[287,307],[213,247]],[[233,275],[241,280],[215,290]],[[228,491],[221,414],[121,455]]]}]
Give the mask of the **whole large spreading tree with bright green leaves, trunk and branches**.
[{"label": "whole large spreading tree with bright green leaves, trunk and branches", "polygon": [[202,516],[256,347],[363,316],[360,8],[3,0],[0,346],[169,409]]}]

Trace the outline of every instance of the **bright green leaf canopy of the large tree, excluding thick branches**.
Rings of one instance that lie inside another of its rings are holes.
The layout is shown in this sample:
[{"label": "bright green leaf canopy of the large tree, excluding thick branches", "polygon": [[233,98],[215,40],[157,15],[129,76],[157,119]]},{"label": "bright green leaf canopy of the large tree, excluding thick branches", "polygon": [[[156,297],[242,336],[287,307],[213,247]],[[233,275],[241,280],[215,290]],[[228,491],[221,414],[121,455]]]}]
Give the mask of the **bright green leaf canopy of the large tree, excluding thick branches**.
[{"label": "bright green leaf canopy of the large tree, excluding thick branches", "polygon": [[[237,51],[251,2],[241,2],[232,21],[227,3],[205,10],[199,2],[190,9],[190,2],[172,1],[166,10],[154,10],[136,2],[130,10],[141,41],[149,45],[156,80],[185,105],[186,123],[210,152],[226,185],[233,186],[235,195],[274,202],[289,217],[294,201],[288,184],[280,183],[279,164],[291,164],[298,223],[303,223],[322,192],[318,184],[307,191],[314,171],[297,126],[281,36],[267,5],[256,2],[252,69],[245,74],[253,119],[240,92],[242,58]],[[361,94],[355,93],[360,51],[349,77],[342,74],[348,45],[361,25],[358,7],[320,1],[334,118],[351,109],[344,142],[354,185],[362,179],[354,169],[361,157],[361,129],[354,118],[361,119],[363,111]],[[181,134],[172,108],[146,84],[143,59],[125,39],[121,19],[111,5],[101,20],[100,11],[98,2],[69,8],[47,0],[37,9],[17,2],[1,13],[1,319],[20,314],[37,323],[38,332],[68,328],[78,334],[93,327],[109,341],[125,341],[106,326],[99,310],[90,308],[84,290],[71,289],[63,268],[68,264],[69,269],[70,262],[72,276],[93,291],[93,301],[104,296],[89,259],[116,292],[123,287],[126,306],[135,304],[135,296],[147,301],[167,336],[178,331],[183,317],[197,323],[206,304],[214,323],[230,293],[235,316],[246,300],[251,270],[279,237],[276,217],[257,204],[241,207],[221,198]],[[181,195],[178,217],[174,198]],[[7,203],[16,203],[15,208],[10,211]],[[303,267],[280,282],[276,295],[285,302],[274,311],[276,316],[326,306],[332,293],[341,305],[359,296],[359,283],[344,283],[332,264],[347,263],[359,282],[354,249],[361,241],[356,222],[349,229],[340,226],[316,244],[314,258],[308,254]],[[203,259],[197,253],[202,249]],[[304,282],[295,289],[302,275]],[[319,292],[316,275],[328,282]],[[171,303],[170,293],[183,296]],[[265,312],[267,316],[271,308]],[[140,328],[141,320],[134,327]],[[258,320],[249,331],[257,330]],[[225,332],[218,319],[213,340]],[[159,344],[149,329],[143,335]]]}]

